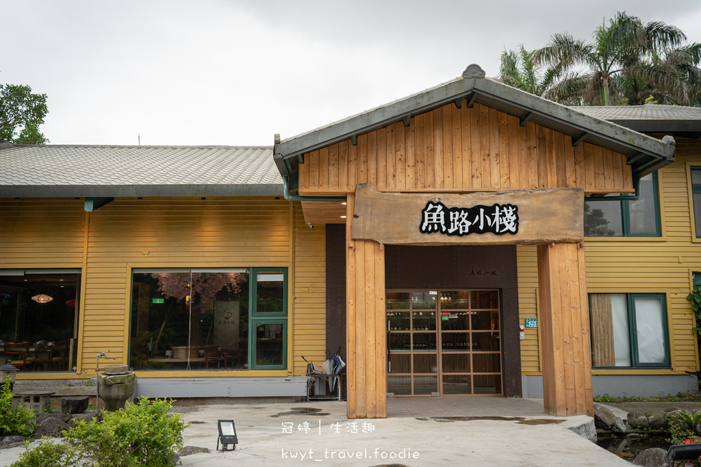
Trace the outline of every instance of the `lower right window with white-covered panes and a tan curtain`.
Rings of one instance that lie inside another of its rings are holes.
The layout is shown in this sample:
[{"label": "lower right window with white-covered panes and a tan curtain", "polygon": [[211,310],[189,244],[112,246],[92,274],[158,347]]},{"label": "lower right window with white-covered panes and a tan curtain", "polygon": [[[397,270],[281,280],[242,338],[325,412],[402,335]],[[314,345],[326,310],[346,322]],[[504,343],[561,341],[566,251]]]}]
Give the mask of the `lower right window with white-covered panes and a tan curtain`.
[{"label": "lower right window with white-covered panes and a tan curtain", "polygon": [[592,367],[669,367],[665,296],[590,293]]}]

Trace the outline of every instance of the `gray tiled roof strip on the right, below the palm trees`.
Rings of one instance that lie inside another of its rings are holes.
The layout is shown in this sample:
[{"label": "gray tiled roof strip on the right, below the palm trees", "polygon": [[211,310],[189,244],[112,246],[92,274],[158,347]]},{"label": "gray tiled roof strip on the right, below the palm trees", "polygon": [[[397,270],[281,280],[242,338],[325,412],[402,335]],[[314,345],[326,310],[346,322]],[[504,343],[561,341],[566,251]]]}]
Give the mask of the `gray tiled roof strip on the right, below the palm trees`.
[{"label": "gray tiled roof strip on the right, below the palm trees", "polygon": [[701,107],[645,104],[644,106],[571,106],[601,120],[701,120]]}]

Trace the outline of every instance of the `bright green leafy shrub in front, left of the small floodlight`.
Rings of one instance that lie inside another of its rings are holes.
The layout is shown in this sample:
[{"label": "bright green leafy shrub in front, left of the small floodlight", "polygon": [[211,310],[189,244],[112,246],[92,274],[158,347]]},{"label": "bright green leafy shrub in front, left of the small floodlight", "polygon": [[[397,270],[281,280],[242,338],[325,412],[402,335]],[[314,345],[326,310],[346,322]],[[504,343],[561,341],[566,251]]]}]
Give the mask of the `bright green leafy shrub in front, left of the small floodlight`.
[{"label": "bright green leafy shrub in front, left of the small floodlight", "polygon": [[141,398],[105,414],[101,422],[80,421],[65,439],[88,465],[172,466],[185,424],[181,414],[168,414],[170,408],[168,400]]}]

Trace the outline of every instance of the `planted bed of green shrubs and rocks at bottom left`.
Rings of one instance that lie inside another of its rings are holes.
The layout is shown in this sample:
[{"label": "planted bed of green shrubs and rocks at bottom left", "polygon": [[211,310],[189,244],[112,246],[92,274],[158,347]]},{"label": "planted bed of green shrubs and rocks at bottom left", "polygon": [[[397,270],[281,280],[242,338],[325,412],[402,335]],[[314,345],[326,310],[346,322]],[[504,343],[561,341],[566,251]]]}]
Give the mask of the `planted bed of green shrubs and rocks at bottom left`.
[{"label": "planted bed of green shrubs and rocks at bottom left", "polygon": [[192,447],[183,450],[183,417],[171,409],[168,400],[142,398],[98,415],[85,396],[37,413],[13,404],[8,381],[0,392],[0,449],[25,445],[12,467],[173,466]]}]

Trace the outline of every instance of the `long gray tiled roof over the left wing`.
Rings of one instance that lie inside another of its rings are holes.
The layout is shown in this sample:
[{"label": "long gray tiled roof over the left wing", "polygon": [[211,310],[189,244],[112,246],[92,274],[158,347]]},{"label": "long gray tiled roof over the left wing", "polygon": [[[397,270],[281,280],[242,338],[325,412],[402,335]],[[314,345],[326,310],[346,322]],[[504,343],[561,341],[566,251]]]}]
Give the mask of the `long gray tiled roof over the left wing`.
[{"label": "long gray tiled roof over the left wing", "polygon": [[0,196],[280,195],[268,146],[0,146]]}]

